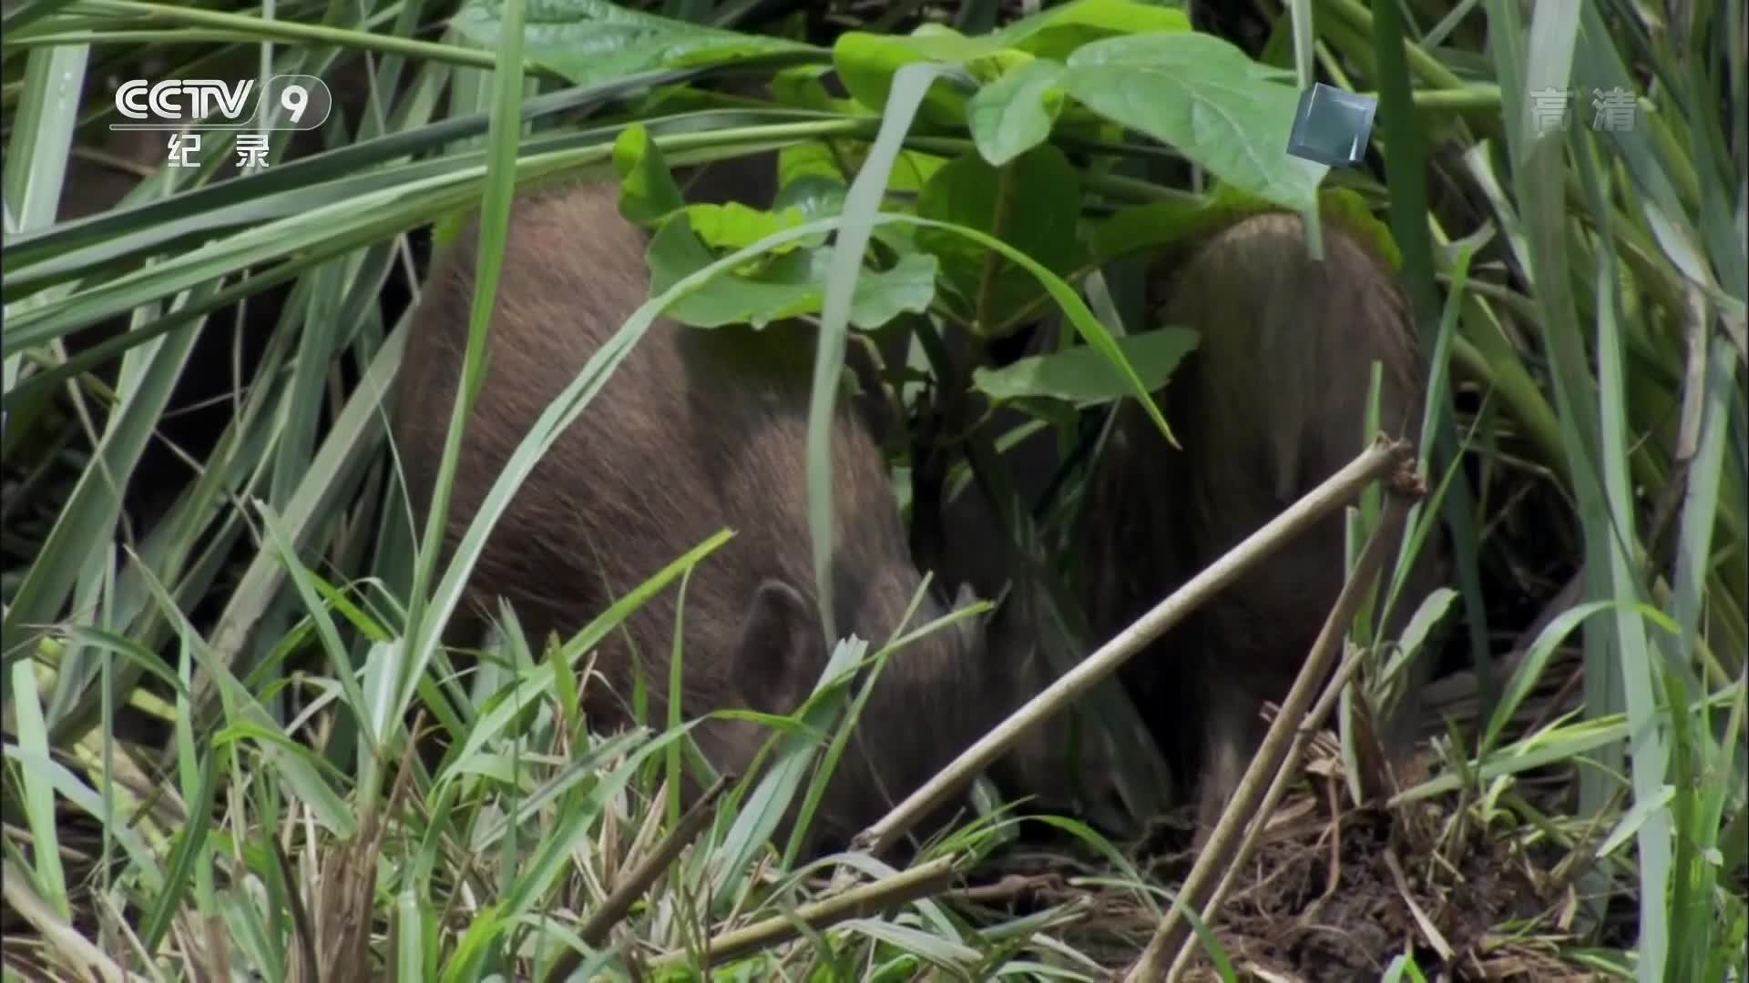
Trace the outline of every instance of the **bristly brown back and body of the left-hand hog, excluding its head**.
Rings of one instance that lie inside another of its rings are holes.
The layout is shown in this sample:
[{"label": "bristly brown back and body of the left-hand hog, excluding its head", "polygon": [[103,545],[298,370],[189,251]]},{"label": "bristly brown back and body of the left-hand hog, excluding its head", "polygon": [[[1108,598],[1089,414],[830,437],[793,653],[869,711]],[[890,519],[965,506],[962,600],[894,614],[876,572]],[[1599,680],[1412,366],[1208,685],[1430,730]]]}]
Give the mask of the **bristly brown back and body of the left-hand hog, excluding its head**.
[{"label": "bristly brown back and body of the left-hand hog, excluding its head", "polygon": [[[420,516],[430,505],[467,345],[476,241],[470,226],[434,266],[397,383],[397,441]],[[647,297],[644,248],[609,185],[514,203],[488,373],[451,493],[448,549],[547,404]],[[469,603],[495,612],[495,598],[505,596],[532,638],[570,633],[731,528],[735,539],[689,579],[684,617],[684,703],[689,712],[724,705],[733,680],[717,656],[733,649],[759,582],[813,582],[805,341],[652,324],[512,497],[470,577]],[[840,567],[880,568],[904,542],[885,474],[859,429],[840,425],[833,446]],[[873,500],[881,493],[885,511]],[[609,642],[596,663],[628,698],[631,663],[640,659],[652,712],[663,710],[675,600],[668,588],[645,602],[628,619],[633,651]],[[621,719],[612,707],[596,714]]]}]

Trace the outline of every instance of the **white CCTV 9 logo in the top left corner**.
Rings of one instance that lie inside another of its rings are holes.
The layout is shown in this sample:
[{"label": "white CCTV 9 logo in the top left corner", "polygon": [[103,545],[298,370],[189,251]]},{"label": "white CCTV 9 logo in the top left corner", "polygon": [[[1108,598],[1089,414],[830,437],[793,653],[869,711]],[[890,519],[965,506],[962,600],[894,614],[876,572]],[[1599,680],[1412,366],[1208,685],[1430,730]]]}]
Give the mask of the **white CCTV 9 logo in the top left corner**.
[{"label": "white CCTV 9 logo in the top left corner", "polygon": [[255,80],[131,79],[115,89],[115,112],[133,122],[112,129],[315,129],[334,96],[315,75],[273,75],[255,94]]}]

